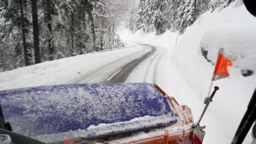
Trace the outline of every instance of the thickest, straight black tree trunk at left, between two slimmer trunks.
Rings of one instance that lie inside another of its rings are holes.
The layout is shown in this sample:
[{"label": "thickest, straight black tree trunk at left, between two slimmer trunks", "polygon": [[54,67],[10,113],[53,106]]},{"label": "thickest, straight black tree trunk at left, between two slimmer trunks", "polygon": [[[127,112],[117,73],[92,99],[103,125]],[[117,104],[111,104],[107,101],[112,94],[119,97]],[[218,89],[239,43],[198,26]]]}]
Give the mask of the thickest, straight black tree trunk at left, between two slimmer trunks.
[{"label": "thickest, straight black tree trunk at left, between two slimmer trunks", "polygon": [[34,37],[34,60],[35,63],[41,62],[40,47],[39,47],[39,26],[37,16],[37,0],[31,0],[32,7],[32,23],[33,23],[33,37]]}]

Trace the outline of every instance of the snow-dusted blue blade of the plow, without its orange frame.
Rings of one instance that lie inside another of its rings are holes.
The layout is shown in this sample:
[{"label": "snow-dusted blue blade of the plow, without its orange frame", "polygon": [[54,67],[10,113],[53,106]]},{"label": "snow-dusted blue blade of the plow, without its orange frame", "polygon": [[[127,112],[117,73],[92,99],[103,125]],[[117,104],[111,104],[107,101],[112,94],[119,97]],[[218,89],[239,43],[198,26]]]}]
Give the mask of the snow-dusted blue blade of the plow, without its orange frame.
[{"label": "snow-dusted blue blade of the plow, without its orange frame", "polygon": [[13,131],[44,142],[125,133],[177,122],[152,83],[40,86],[0,91]]}]

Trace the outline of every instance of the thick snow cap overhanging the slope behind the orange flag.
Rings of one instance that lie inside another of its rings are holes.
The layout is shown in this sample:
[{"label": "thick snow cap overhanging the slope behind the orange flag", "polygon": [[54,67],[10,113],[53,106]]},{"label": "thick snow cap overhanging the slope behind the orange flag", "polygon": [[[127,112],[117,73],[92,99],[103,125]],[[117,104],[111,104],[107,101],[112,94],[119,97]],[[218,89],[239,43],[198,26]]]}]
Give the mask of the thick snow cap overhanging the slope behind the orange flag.
[{"label": "thick snow cap overhanging the slope behind the orange flag", "polygon": [[202,15],[200,19],[206,15],[207,19],[197,21],[202,23],[199,24],[200,27],[205,27],[201,49],[208,51],[210,55],[207,58],[211,61],[217,59],[217,55],[214,53],[217,53],[219,47],[237,53],[237,62],[234,66],[241,70],[253,70],[255,73],[256,18],[245,11],[244,5],[235,9],[220,11],[218,21],[214,21],[216,14],[217,12]]}]

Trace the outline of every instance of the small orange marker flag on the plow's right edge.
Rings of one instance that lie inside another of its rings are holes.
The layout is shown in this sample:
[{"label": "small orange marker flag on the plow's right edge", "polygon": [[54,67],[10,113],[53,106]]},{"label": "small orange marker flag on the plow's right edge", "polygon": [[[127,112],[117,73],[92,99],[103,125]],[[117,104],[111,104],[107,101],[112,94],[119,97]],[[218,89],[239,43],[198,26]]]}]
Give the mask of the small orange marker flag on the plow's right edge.
[{"label": "small orange marker flag on the plow's right edge", "polygon": [[228,77],[230,75],[228,66],[233,65],[231,61],[236,61],[236,55],[234,53],[226,53],[223,48],[219,49],[218,54],[219,56],[212,76],[212,81]]}]

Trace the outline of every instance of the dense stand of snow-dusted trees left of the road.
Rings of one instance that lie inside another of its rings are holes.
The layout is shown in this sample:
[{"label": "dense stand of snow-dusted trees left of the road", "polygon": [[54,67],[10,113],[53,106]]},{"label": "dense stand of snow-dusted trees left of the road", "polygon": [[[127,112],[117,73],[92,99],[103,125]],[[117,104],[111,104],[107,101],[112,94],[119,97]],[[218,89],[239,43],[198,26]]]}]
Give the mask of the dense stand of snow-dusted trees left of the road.
[{"label": "dense stand of snow-dusted trees left of the road", "polygon": [[117,27],[134,1],[0,1],[0,71],[123,46]]}]

